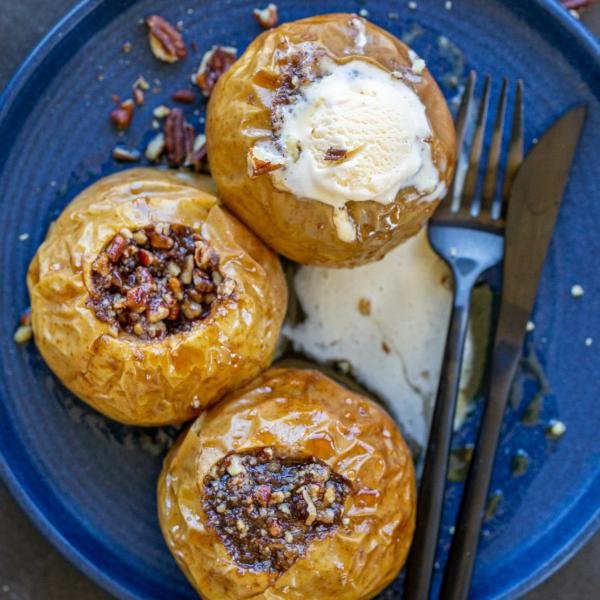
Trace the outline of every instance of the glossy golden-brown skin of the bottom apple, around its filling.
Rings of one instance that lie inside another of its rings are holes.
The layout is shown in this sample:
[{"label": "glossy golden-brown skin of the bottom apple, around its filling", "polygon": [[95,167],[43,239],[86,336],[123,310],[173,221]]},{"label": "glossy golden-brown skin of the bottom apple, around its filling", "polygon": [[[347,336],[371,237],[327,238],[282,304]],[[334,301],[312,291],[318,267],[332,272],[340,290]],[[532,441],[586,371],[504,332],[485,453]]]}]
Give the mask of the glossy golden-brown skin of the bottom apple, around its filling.
[{"label": "glossy golden-brown skin of the bottom apple, around its filling", "polygon": [[[203,480],[227,453],[272,447],[314,456],[352,483],[347,525],[315,540],[279,577],[236,564],[203,509]],[[312,370],[271,369],[209,409],[171,449],[158,483],[160,524],[207,600],[358,600],[404,564],[415,525],[415,475],[390,416]]]}]

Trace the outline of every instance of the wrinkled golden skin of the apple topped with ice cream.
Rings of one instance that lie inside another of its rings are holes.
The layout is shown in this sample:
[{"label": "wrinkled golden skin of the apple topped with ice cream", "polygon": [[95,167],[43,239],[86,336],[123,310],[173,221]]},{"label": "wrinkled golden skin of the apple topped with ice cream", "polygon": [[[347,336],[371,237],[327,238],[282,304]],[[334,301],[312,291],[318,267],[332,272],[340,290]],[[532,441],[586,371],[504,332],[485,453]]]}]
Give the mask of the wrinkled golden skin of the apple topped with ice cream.
[{"label": "wrinkled golden skin of the apple topped with ice cream", "polygon": [[[351,21],[364,23],[364,54],[348,49],[355,43]],[[414,188],[400,190],[390,204],[348,202],[357,224],[357,239],[343,242],[328,204],[278,190],[268,174],[252,179],[246,157],[256,138],[244,130],[270,130],[270,110],[261,101],[253,76],[276,72],[275,50],[286,37],[292,44],[318,42],[336,62],[367,60],[392,72],[410,67],[409,48],[387,31],[349,14],[310,17],[281,25],[258,36],[219,79],[208,105],[206,132],[212,175],[225,204],[280,254],[303,264],[353,267],[382,258],[415,235],[435,210],[437,201],[408,200]],[[452,117],[444,97],[427,69],[414,85],[432,129],[432,158],[448,187],[456,162]]]}]

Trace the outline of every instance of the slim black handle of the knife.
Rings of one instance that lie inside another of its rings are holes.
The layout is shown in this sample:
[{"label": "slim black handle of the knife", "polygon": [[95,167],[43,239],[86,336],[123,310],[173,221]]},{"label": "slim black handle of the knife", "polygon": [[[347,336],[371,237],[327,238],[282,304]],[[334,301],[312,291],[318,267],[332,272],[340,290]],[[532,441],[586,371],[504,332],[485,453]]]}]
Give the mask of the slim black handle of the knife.
[{"label": "slim black handle of the knife", "polygon": [[500,340],[494,348],[488,398],[442,581],[444,600],[465,600],[469,594],[500,430],[520,357],[521,345]]}]

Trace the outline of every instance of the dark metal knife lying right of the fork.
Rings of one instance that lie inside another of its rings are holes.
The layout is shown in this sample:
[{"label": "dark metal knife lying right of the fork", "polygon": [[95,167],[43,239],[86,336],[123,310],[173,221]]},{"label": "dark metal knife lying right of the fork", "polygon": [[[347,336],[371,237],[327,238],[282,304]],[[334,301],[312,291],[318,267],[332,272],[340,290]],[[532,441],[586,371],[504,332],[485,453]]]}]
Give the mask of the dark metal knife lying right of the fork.
[{"label": "dark metal knife lying right of the fork", "polygon": [[444,600],[464,600],[469,593],[504,411],[585,114],[578,106],[552,125],[511,189],[487,399],[442,581]]}]

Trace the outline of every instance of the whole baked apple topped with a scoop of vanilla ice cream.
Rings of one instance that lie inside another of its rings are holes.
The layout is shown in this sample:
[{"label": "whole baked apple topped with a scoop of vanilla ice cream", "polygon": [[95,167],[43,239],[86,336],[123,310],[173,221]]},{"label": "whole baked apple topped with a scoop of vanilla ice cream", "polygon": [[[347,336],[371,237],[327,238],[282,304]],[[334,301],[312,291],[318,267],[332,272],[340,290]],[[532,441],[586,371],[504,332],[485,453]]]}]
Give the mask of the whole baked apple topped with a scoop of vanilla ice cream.
[{"label": "whole baked apple topped with a scoop of vanilla ice cream", "polygon": [[213,90],[206,133],[225,204],[304,264],[383,257],[423,226],[455,165],[452,119],[425,62],[349,14],[256,38]]}]

